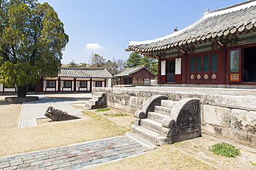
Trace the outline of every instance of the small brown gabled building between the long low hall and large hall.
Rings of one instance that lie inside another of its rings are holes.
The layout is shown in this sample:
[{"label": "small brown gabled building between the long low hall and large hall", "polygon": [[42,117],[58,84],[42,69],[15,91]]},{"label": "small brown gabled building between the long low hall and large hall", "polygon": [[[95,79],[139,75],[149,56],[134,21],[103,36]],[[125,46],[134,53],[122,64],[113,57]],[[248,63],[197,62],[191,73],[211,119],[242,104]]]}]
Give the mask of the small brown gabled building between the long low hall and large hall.
[{"label": "small brown gabled building between the long low hall and large hall", "polygon": [[118,85],[150,85],[150,78],[156,77],[144,65],[128,67],[114,75],[118,78]]}]

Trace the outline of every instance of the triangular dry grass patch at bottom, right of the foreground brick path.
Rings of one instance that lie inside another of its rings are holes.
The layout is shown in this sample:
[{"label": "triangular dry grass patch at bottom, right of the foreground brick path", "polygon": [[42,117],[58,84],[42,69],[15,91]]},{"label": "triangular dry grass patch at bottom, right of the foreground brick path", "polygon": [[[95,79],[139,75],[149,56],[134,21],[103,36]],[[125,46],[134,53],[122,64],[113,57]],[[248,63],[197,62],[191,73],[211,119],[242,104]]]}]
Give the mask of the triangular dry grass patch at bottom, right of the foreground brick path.
[{"label": "triangular dry grass patch at bottom, right of the foreground brick path", "polygon": [[209,164],[196,160],[193,156],[174,149],[172,145],[163,145],[148,153],[140,154],[136,157],[111,162],[91,169],[216,169]]}]

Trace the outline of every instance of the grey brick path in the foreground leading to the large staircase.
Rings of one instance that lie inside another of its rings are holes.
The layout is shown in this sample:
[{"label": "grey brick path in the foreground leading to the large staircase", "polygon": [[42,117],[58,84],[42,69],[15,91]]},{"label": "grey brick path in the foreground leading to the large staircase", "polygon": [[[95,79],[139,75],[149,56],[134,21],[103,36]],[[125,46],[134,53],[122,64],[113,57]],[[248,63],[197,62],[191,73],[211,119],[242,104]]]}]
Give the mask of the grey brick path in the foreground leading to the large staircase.
[{"label": "grey brick path in the foreground leading to the large staircase", "polygon": [[0,169],[82,169],[149,149],[124,136],[0,157]]}]

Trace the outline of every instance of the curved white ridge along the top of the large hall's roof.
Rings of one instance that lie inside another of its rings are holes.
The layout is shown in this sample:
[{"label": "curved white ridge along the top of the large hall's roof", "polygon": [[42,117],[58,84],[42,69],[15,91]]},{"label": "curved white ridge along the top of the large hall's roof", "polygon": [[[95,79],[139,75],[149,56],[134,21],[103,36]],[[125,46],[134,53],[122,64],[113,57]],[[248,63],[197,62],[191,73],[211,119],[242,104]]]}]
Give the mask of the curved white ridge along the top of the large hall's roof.
[{"label": "curved white ridge along the top of the large hall's roof", "polygon": [[192,23],[191,25],[188,25],[187,27],[183,28],[182,30],[179,30],[177,32],[172,32],[170,34],[167,34],[165,36],[161,36],[161,37],[156,38],[156,39],[150,39],[150,40],[146,40],[146,41],[130,41],[129,45],[145,45],[145,44],[150,44],[150,43],[156,43],[158,41],[163,41],[165,39],[170,39],[174,36],[182,34],[183,32],[185,32],[187,30],[190,30],[190,28],[194,27],[194,25],[204,21],[205,19],[217,16],[217,15],[220,15],[220,14],[225,14],[225,13],[228,13],[228,12],[233,12],[233,11],[241,10],[241,9],[244,9],[244,8],[248,8],[250,6],[256,6],[256,0],[248,0],[248,1],[241,2],[241,3],[237,3],[237,4],[232,5],[232,6],[228,6],[226,8],[219,8],[217,10],[211,10],[209,12],[205,12],[203,14],[203,17],[201,17],[199,20]]}]

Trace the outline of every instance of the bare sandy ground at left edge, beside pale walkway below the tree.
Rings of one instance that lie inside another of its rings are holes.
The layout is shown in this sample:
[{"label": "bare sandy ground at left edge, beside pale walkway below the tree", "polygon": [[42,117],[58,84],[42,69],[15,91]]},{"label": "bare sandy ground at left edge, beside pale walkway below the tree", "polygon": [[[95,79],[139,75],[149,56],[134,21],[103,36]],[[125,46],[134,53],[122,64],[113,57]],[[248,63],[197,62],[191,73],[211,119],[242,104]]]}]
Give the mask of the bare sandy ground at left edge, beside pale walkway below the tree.
[{"label": "bare sandy ground at left edge, beside pale walkway below the tree", "polygon": [[0,96],[0,129],[18,127],[22,103],[6,103],[5,98]]}]

